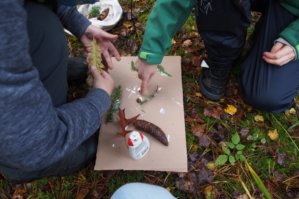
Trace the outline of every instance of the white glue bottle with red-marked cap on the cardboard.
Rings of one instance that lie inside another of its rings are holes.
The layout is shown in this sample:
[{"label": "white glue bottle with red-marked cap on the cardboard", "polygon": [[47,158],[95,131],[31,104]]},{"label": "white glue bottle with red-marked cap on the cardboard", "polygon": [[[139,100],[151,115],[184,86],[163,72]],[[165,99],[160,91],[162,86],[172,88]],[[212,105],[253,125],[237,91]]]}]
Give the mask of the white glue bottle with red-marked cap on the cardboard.
[{"label": "white glue bottle with red-marked cap on the cardboard", "polygon": [[139,160],[149,151],[149,139],[137,131],[133,131],[128,139],[129,153],[133,160]]}]

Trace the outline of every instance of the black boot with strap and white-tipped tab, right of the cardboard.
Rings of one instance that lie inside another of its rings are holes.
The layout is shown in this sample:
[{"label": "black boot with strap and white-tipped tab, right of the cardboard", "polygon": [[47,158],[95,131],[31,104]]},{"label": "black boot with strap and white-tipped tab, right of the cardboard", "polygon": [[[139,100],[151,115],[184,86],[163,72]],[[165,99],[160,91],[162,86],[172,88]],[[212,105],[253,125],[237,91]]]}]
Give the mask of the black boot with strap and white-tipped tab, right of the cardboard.
[{"label": "black boot with strap and white-tipped tab, right of the cardboard", "polygon": [[202,61],[202,72],[199,87],[202,94],[210,100],[219,100],[225,94],[228,78],[231,76],[231,66],[228,63]]}]

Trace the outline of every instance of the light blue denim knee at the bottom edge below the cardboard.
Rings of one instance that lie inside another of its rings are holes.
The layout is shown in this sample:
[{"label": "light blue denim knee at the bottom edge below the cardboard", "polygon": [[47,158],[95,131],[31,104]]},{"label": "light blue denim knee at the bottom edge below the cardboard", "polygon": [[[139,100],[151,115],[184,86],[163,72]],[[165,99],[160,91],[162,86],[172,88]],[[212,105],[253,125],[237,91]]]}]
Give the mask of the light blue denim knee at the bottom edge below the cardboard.
[{"label": "light blue denim knee at the bottom edge below the cardboard", "polygon": [[146,183],[129,183],[121,186],[111,199],[176,199],[161,186]]}]

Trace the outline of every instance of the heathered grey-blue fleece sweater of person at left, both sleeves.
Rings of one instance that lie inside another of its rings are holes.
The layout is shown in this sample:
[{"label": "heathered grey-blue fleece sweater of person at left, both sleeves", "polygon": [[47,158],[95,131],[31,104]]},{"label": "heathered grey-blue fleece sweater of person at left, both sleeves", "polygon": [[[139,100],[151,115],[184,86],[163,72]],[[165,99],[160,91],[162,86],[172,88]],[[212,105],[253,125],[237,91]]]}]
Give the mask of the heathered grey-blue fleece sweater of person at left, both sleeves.
[{"label": "heathered grey-blue fleece sweater of person at left, both sleeves", "polygon": [[[54,108],[30,58],[23,0],[0,1],[0,164],[42,170],[89,138],[110,107],[102,89]],[[80,38],[90,22],[60,6],[62,25]]]}]

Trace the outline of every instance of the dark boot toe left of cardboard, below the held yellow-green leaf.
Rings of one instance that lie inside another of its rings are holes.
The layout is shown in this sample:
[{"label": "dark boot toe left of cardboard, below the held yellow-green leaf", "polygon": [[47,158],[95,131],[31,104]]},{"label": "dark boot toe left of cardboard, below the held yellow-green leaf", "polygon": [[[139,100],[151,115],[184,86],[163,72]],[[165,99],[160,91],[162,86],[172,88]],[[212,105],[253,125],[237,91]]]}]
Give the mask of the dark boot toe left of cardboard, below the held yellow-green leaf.
[{"label": "dark boot toe left of cardboard, below the held yellow-green leaf", "polygon": [[68,58],[68,80],[75,80],[83,78],[87,75],[88,64],[86,57],[72,57]]}]

